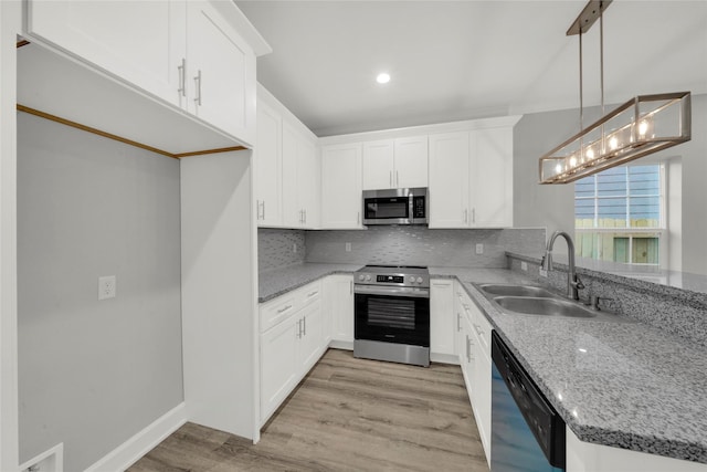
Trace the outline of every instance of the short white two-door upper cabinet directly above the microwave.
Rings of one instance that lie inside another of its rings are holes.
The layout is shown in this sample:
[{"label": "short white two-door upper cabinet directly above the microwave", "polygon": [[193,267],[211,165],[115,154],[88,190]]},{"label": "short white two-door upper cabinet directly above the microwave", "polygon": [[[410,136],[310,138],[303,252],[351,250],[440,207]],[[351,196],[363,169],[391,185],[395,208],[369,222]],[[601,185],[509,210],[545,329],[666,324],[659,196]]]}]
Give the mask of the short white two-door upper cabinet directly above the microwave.
[{"label": "short white two-door upper cabinet directly above the microwave", "polygon": [[363,143],[363,190],[428,187],[428,137]]}]

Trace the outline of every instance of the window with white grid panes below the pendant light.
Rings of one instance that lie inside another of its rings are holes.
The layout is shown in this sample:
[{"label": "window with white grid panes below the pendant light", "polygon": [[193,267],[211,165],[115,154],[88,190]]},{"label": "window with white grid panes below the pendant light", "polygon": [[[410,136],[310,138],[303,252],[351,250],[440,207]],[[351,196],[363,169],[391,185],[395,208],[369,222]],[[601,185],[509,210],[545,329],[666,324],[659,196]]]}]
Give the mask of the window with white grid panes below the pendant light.
[{"label": "window with white grid panes below the pendant light", "polygon": [[662,165],[615,167],[574,183],[577,255],[659,265],[665,248]]}]

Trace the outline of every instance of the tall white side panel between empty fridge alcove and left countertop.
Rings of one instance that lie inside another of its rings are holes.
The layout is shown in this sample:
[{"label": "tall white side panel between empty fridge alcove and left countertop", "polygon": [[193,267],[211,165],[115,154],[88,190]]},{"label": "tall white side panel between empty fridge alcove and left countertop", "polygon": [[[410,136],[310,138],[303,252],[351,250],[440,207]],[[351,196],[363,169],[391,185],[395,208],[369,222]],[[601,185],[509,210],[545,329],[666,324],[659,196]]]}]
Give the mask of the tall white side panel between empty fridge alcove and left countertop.
[{"label": "tall white side panel between empty fridge alcove and left countertop", "polygon": [[181,160],[184,401],[190,421],[254,438],[251,151]]}]

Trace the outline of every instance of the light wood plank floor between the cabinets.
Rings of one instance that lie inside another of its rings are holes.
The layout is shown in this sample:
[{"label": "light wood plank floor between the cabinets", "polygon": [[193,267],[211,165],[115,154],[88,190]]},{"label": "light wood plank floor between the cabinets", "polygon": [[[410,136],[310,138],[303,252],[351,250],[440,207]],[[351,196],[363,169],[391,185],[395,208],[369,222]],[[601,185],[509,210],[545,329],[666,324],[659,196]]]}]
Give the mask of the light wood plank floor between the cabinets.
[{"label": "light wood plank floor between the cabinets", "polygon": [[146,471],[488,471],[458,366],[329,349],[252,441],[187,423]]}]

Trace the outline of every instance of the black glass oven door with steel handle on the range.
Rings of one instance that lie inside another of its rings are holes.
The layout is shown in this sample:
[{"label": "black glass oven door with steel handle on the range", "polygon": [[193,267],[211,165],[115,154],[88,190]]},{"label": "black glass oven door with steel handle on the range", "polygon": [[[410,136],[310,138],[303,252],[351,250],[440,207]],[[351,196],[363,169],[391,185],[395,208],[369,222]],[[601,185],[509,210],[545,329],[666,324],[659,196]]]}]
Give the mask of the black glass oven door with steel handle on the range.
[{"label": "black glass oven door with steel handle on the range", "polygon": [[356,339],[430,347],[430,291],[411,287],[355,287]]}]

